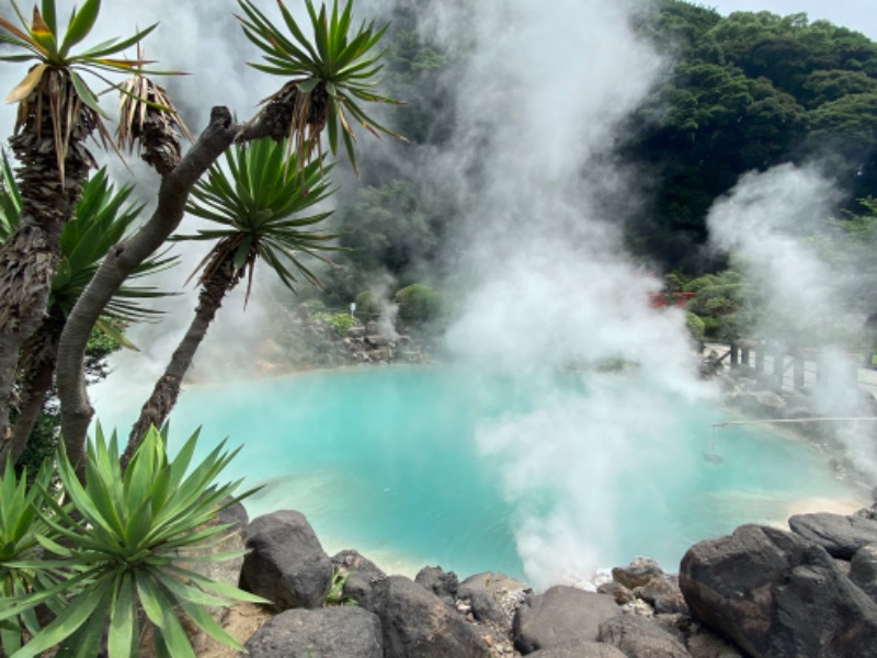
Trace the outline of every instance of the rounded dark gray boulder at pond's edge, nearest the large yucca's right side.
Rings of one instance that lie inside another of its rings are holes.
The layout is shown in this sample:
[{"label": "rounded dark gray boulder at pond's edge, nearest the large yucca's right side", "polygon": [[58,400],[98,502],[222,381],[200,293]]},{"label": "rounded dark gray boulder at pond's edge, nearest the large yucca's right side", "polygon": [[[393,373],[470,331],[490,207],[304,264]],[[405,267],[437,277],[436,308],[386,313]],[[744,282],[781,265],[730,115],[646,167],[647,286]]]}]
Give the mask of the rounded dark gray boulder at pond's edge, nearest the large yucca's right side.
[{"label": "rounded dark gray boulder at pond's edge, nearest the large yucca's right side", "polygon": [[317,608],[332,582],[332,563],[301,512],[281,511],[247,526],[240,585],[280,610]]}]

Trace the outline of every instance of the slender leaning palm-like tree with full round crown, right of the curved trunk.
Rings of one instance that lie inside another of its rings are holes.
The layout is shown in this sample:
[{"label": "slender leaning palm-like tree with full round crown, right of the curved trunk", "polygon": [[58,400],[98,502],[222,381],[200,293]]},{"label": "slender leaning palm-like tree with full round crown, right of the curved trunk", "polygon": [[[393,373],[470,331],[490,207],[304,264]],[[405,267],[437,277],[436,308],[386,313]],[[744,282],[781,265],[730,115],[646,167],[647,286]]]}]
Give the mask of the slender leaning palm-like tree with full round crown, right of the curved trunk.
[{"label": "slender leaning palm-like tree with full round crown, right of the curved trunk", "polygon": [[297,276],[319,286],[315,273],[301,261],[304,254],[328,262],[320,252],[341,250],[331,245],[338,235],[315,230],[331,212],[304,214],[331,193],[322,162],[301,163],[294,156],[287,159],[286,152],[285,143],[270,138],[234,147],[226,152],[226,168],[214,164],[193,189],[194,201],[186,209],[215,228],[176,239],[216,245],[193,273],[198,274],[201,286],[195,317],[132,429],[123,463],[133,456],[149,427],[161,427],[167,419],[223,299],[244,277],[249,299],[259,260],[294,291]]}]

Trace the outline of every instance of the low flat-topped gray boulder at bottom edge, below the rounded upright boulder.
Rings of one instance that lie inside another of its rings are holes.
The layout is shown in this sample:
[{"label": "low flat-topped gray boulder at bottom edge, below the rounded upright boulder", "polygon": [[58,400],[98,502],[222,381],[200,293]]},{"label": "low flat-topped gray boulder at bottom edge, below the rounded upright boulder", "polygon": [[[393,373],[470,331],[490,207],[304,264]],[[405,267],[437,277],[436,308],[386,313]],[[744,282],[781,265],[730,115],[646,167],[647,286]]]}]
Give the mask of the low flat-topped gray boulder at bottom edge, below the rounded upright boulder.
[{"label": "low flat-topped gray boulder at bottom edge, below the rounded upright boulder", "polygon": [[380,621],[353,605],[287,610],[243,647],[249,658],[383,658]]}]

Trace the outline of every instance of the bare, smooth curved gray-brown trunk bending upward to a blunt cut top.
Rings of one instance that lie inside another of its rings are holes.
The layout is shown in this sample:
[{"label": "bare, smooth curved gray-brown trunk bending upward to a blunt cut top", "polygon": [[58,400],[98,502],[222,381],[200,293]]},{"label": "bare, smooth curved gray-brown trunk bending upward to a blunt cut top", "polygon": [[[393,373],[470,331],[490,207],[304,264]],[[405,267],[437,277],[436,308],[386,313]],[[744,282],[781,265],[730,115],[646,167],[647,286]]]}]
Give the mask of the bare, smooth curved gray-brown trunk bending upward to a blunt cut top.
[{"label": "bare, smooth curved gray-brown trunk bending upward to a blunt cut top", "polygon": [[128,240],[109,251],[89,286],[79,297],[58,347],[58,397],[61,432],[73,464],[84,460],[84,443],[94,409],[86,392],[84,356],[89,336],[106,304],[125,279],[159,249],[180,225],[192,188],[223,155],[240,132],[227,107],[214,107],[210,123],[180,163],[162,178],[158,206]]}]

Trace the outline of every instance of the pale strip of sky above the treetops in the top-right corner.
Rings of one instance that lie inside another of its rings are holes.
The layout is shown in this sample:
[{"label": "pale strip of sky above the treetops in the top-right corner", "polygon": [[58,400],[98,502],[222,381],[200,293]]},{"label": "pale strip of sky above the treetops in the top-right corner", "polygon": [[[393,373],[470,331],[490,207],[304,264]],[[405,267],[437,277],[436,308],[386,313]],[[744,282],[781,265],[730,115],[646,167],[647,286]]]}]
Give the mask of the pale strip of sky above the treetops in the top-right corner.
[{"label": "pale strip of sky above the treetops in the top-right corner", "polygon": [[877,39],[877,0],[711,0],[704,2],[720,14],[771,11],[781,15],[807,12],[811,21],[825,19]]}]

